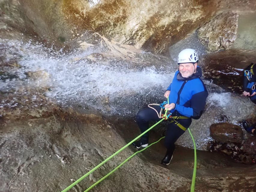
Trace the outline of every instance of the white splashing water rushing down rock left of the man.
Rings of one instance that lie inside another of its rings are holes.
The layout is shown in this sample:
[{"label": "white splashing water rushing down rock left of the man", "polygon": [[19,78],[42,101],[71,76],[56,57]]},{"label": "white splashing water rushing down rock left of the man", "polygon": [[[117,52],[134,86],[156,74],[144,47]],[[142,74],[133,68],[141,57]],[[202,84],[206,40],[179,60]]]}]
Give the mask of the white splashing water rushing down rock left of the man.
[{"label": "white splashing water rushing down rock left of the man", "polygon": [[[84,59],[93,53],[93,49],[63,53],[62,50],[54,52],[53,49],[30,42],[8,40],[4,43],[9,52],[19,55],[18,64],[22,67],[15,71],[18,79],[0,81],[0,90],[19,89],[24,84],[42,86],[44,83],[52,90],[48,96],[57,99],[61,104],[72,101],[90,105],[97,97],[108,96],[111,100],[129,93],[145,94],[153,87],[165,90],[174,75],[174,72],[159,71],[154,66],[134,69],[125,61],[116,61],[113,66],[107,61],[92,62]],[[44,78],[34,82],[27,79],[26,72],[38,70],[47,73],[49,79],[46,82]]]}]

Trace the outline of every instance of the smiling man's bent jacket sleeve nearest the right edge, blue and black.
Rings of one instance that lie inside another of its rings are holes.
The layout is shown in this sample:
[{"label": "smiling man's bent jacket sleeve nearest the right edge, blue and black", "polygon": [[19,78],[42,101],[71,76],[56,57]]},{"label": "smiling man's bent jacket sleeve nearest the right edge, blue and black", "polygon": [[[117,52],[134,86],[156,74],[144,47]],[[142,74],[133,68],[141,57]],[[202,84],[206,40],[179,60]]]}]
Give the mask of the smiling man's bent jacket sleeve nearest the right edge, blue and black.
[{"label": "smiling man's bent jacket sleeve nearest the right edge, blue and black", "polygon": [[193,119],[199,119],[203,113],[207,96],[207,91],[196,93],[191,98],[191,107],[184,107],[176,104],[175,110],[184,116],[191,117]]}]

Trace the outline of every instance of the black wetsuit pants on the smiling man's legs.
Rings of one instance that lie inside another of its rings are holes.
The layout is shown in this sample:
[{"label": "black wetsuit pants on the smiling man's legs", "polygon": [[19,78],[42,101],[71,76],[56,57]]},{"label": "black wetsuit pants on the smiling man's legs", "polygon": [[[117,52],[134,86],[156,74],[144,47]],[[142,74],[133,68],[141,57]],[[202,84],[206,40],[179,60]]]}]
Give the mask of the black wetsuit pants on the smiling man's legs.
[{"label": "black wetsuit pants on the smiling man's legs", "polygon": [[[153,106],[153,107],[158,111],[158,114],[159,114],[159,112],[161,110],[161,107],[160,106]],[[141,133],[143,133],[144,131],[146,131],[149,128],[149,122],[150,121],[158,122],[158,121],[161,120],[161,119],[159,119],[155,110],[153,110],[149,107],[147,107],[143,110],[140,110],[137,113],[136,119],[137,119],[137,124],[140,128]],[[191,118],[189,118],[189,119],[178,119],[177,121],[181,125],[183,125],[185,128],[188,128],[191,125],[191,122],[192,122]],[[169,123],[167,125],[167,132],[166,132],[165,139],[164,139],[164,146],[167,148],[167,153],[168,154],[173,153],[173,151],[175,150],[174,143],[176,142],[176,140],[183,133],[185,133],[185,131],[183,131],[181,128],[179,128],[174,123]],[[146,134],[144,134],[141,139],[142,140],[148,140],[149,139],[148,132]]]}]

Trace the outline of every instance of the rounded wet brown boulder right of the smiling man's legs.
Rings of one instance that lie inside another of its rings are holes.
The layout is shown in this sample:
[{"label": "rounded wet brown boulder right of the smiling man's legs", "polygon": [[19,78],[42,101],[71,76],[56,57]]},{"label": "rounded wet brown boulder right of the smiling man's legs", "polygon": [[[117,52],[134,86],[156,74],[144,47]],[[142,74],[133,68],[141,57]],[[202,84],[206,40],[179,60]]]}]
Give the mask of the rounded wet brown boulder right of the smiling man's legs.
[{"label": "rounded wet brown boulder right of the smiling man's legs", "polygon": [[210,126],[211,137],[222,143],[242,143],[243,132],[238,125],[216,123]]}]

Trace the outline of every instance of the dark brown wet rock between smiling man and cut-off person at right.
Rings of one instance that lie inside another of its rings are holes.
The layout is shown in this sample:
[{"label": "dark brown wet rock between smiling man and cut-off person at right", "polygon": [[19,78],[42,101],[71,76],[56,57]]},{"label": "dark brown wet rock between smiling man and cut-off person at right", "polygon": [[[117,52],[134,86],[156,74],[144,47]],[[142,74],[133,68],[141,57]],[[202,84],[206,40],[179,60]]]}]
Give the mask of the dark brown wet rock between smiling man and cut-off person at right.
[{"label": "dark brown wet rock between smiling man and cut-off person at right", "polygon": [[228,91],[242,93],[243,69],[256,62],[255,51],[226,50],[203,56],[204,77]]}]

